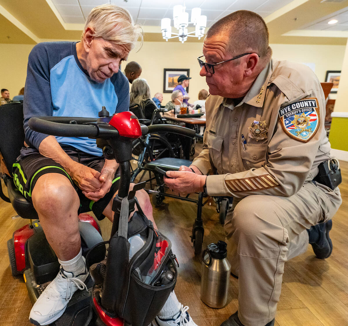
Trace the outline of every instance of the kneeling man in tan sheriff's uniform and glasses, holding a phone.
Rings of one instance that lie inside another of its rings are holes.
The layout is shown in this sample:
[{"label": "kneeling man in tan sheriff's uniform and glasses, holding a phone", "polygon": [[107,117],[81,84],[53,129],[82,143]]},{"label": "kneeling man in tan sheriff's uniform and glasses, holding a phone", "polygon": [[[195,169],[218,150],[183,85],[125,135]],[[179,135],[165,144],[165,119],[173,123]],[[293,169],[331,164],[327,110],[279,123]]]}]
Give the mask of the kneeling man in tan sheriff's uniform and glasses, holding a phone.
[{"label": "kneeling man in tan sheriff's uniform and glasses, holding a phone", "polygon": [[165,183],[234,197],[224,228],[239,307],[221,326],[271,326],[285,261],[308,242],[318,258],[332,251],[341,176],[324,129],[325,98],[308,67],[271,60],[266,23],[251,11],[213,24],[203,54],[211,94],[203,150],[195,173],[182,166]]}]

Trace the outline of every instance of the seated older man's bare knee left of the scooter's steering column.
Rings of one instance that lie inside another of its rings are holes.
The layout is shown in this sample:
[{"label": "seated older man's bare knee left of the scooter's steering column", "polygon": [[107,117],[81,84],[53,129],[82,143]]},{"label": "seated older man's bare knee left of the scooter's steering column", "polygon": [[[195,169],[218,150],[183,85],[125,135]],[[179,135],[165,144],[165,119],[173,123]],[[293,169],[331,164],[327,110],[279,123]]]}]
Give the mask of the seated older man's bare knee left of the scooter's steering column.
[{"label": "seated older man's bare knee left of the scooter's steering column", "polygon": [[58,173],[41,176],[32,192],[32,200],[39,215],[55,216],[78,210],[79,197],[70,181]]}]

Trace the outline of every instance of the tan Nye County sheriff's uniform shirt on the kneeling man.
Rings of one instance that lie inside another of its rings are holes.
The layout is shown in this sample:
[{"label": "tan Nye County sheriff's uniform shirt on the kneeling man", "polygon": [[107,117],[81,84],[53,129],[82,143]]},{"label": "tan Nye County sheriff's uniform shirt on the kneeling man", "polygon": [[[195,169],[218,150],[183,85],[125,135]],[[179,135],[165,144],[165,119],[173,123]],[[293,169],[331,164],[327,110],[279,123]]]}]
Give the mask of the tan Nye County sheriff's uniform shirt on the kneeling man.
[{"label": "tan Nye County sheriff's uniform shirt on the kneeling man", "polygon": [[[286,125],[280,116],[293,109],[297,115],[289,115]],[[305,110],[312,110],[314,118],[303,117]],[[324,93],[314,72],[271,60],[236,107],[231,99],[208,97],[203,150],[192,164],[203,174],[217,174],[207,177],[212,196],[291,196],[316,176],[321,162],[332,158],[324,117]],[[255,139],[260,124],[248,129],[254,121],[266,124],[268,131],[261,132],[266,138]]]}]

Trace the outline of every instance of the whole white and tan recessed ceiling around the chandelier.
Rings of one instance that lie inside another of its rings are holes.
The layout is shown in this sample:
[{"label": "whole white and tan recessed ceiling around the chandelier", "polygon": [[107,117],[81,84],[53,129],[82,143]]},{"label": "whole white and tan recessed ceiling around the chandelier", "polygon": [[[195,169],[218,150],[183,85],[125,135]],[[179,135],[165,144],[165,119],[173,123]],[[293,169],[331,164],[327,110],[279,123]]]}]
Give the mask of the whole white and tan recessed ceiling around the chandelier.
[{"label": "whole white and tan recessed ceiling around the chandelier", "polygon": [[[255,11],[271,43],[346,45],[348,37],[348,0],[0,0],[0,44],[79,39],[90,10],[108,1],[126,7],[150,42],[163,41],[160,20],[172,18],[177,4],[185,4],[189,14],[200,7],[208,28],[235,10]],[[328,25],[332,18],[338,23]]]}]

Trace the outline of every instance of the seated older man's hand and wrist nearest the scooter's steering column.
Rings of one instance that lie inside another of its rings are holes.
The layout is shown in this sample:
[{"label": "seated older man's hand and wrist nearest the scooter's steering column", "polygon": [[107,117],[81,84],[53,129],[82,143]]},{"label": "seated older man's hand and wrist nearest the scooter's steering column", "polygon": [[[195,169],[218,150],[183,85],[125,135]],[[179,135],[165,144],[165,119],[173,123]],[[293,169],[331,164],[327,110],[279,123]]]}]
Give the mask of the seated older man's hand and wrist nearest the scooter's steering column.
[{"label": "seated older man's hand and wrist nearest the scooter's steering column", "polygon": [[105,160],[102,171],[100,172],[99,180],[102,186],[95,191],[82,191],[82,193],[90,200],[98,201],[103,198],[109,191],[112,185],[112,180],[119,164],[115,160]]}]

